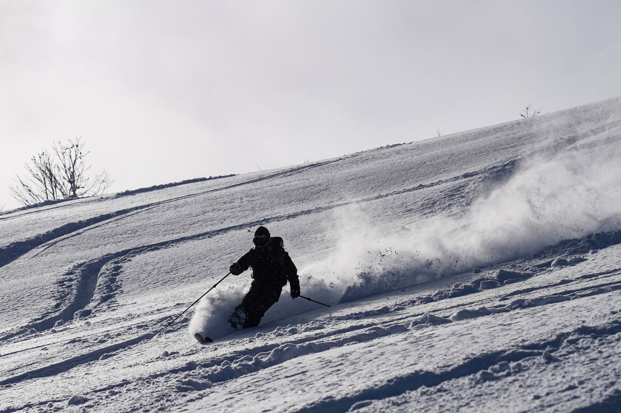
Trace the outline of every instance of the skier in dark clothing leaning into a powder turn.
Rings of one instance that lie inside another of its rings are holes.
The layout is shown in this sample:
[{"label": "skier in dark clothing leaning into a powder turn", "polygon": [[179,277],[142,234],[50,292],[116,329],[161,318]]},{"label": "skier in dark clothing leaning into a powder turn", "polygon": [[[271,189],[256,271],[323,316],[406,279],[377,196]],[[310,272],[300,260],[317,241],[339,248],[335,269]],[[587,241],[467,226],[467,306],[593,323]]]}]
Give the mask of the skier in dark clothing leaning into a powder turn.
[{"label": "skier in dark clothing leaning into a powder turn", "polygon": [[243,298],[229,322],[236,330],[259,325],[268,309],[280,298],[283,286],[289,281],[291,298],[300,296],[300,282],[297,268],[284,251],[283,239],[271,237],[270,231],[260,226],[252,239],[255,247],[230,266],[233,275],[239,275],[252,267],[253,282],[250,291]]}]

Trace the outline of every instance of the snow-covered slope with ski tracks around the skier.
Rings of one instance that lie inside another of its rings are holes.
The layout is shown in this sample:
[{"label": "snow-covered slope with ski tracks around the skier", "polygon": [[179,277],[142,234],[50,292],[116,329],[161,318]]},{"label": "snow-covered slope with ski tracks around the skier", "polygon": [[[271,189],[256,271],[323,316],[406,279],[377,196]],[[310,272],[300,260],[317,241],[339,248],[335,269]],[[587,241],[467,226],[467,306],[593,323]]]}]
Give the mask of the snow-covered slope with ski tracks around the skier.
[{"label": "snow-covered slope with ski tracks around the skier", "polygon": [[[619,412],[620,143],[621,98],[4,213],[0,412]],[[258,225],[332,307],[235,332],[246,272],[165,328]]]}]

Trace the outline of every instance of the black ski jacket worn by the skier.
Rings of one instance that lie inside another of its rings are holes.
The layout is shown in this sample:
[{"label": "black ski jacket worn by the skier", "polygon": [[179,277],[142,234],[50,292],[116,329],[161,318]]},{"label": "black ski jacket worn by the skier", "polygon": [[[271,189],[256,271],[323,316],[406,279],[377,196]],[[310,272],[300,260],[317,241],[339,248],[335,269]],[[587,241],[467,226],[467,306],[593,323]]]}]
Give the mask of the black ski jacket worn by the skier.
[{"label": "black ski jacket worn by the skier", "polygon": [[270,238],[265,247],[251,249],[237,263],[243,271],[252,267],[252,278],[261,284],[283,287],[289,281],[291,285],[299,285],[296,265],[284,251],[282,242],[282,238]]}]

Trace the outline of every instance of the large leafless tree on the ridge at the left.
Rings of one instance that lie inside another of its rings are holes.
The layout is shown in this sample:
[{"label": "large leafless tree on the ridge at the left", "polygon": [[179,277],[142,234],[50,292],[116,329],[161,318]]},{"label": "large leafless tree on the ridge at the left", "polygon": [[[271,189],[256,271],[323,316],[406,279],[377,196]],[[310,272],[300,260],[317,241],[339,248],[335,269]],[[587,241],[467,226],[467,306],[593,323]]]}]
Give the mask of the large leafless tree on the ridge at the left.
[{"label": "large leafless tree on the ridge at the left", "polygon": [[81,138],[68,143],[53,144],[53,153],[43,149],[25,165],[27,175],[17,175],[16,184],[9,187],[11,195],[22,205],[34,205],[49,200],[77,198],[103,193],[114,181],[106,171],[88,175],[91,166],[84,161]]}]

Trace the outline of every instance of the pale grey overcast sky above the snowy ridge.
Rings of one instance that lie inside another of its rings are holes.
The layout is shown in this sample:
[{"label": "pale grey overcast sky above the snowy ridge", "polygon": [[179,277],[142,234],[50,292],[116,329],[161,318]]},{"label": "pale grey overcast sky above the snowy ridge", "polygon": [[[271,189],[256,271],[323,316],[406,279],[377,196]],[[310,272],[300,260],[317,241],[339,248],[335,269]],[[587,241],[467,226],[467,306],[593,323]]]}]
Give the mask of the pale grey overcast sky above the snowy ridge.
[{"label": "pale grey overcast sky above the snowy ridge", "polygon": [[111,192],[621,95],[621,1],[0,0],[0,207],[82,136]]}]

